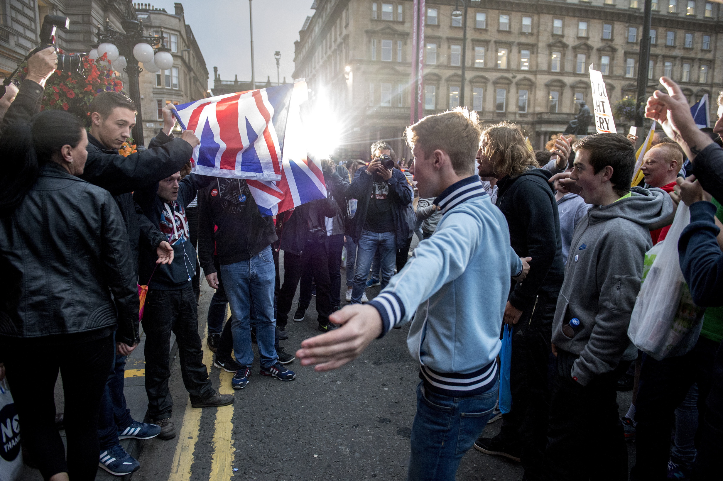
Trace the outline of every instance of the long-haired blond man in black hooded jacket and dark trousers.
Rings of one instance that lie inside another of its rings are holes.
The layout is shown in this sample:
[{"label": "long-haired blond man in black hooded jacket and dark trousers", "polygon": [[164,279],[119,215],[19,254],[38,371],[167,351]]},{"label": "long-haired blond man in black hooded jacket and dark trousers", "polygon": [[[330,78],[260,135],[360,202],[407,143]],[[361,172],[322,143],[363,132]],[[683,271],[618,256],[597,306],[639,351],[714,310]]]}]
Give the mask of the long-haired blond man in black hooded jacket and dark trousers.
[{"label": "long-haired blond man in black hooded jacket and dark trousers", "polygon": [[502,415],[495,438],[479,438],[476,449],[520,460],[525,479],[544,479],[549,391],[547,360],[552,317],[562,285],[562,238],[551,173],[533,168],[534,154],[518,126],[501,123],[482,134],[479,175],[497,181],[497,207],[507,218],[510,243],[530,273],[513,282],[505,323],[514,326],[510,385],[513,409]]}]

